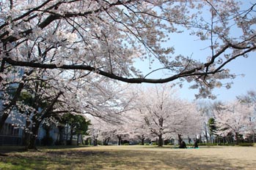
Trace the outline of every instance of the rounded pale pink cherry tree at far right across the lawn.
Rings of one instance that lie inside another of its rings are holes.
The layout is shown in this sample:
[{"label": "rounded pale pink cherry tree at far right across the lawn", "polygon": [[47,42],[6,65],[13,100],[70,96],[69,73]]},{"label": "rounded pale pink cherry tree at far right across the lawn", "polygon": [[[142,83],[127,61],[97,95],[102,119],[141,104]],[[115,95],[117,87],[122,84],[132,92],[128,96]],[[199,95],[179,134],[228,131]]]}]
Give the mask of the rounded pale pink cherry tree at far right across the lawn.
[{"label": "rounded pale pink cherry tree at far right across the lawn", "polygon": [[236,144],[239,143],[239,135],[245,134],[250,127],[250,117],[253,114],[253,107],[233,101],[228,104],[219,105],[214,110],[218,133],[222,136],[232,133],[235,136]]}]

